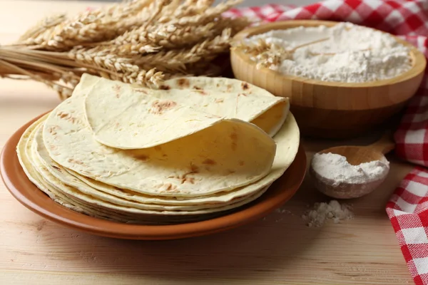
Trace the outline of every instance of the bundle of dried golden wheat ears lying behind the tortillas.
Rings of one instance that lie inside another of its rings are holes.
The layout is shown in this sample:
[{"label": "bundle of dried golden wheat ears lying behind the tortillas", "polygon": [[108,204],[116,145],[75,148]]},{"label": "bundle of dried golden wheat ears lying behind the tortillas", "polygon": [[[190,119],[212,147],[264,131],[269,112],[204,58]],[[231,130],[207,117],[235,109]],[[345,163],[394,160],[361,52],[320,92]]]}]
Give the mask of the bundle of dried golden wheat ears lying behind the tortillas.
[{"label": "bundle of dried golden wheat ears lying behind the tortillas", "polygon": [[83,73],[156,88],[175,76],[218,76],[216,58],[251,24],[226,19],[242,0],[128,0],[52,15],[0,46],[0,77],[41,81],[71,95]]}]

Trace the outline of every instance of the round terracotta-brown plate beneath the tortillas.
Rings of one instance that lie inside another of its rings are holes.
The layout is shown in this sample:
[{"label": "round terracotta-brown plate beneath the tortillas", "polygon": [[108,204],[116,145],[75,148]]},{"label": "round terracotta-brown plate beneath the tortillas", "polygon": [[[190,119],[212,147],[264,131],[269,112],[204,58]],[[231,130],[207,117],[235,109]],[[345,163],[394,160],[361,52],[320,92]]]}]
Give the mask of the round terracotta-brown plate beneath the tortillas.
[{"label": "round terracotta-brown plate beneath the tortillas", "polygon": [[190,222],[174,225],[136,225],[110,222],[103,219],[88,217],[57,204],[44,192],[41,192],[26,177],[16,155],[16,145],[24,130],[38,118],[20,128],[11,136],[0,157],[1,177],[4,184],[14,197],[36,214],[83,232],[104,237],[120,239],[180,239],[232,229],[260,219],[287,202],[297,191],[306,172],[306,156],[302,146],[295,161],[280,179],[260,198],[250,204],[235,209],[234,212],[203,222]]}]

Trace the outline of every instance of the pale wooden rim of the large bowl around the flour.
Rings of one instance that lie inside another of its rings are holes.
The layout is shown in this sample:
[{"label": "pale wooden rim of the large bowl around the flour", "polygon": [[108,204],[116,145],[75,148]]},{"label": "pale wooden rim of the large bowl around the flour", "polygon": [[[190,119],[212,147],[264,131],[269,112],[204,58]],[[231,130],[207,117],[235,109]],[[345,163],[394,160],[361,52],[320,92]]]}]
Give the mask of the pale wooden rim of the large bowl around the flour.
[{"label": "pale wooden rim of the large bowl around the flour", "polygon": [[[276,21],[267,24],[261,24],[259,26],[253,26],[250,28],[245,28],[243,31],[240,31],[233,37],[233,43],[237,43],[238,41],[243,40],[243,38],[248,38],[249,36],[255,36],[259,33],[264,33],[271,30],[280,30],[287,28],[295,28],[297,26],[335,26],[336,24],[344,23],[343,21],[324,21],[324,20],[285,20],[285,21]],[[365,28],[370,28],[364,26]],[[374,31],[380,31],[376,28],[370,28]],[[419,51],[412,43],[405,41],[402,38],[398,38],[394,36],[392,33],[387,33],[385,31],[380,31],[381,33],[386,33],[389,36],[393,36],[396,41],[402,43],[404,46],[407,46],[409,51],[409,56],[412,58],[412,68],[408,71],[400,74],[399,76],[395,76],[393,78],[382,79],[379,81],[368,81],[368,82],[360,82],[360,83],[348,83],[348,82],[339,82],[339,81],[320,81],[317,79],[305,78],[300,76],[292,76],[287,74],[282,74],[277,71],[272,71],[269,68],[260,68],[258,71],[267,73],[270,76],[280,76],[285,80],[290,81],[298,81],[301,83],[313,84],[317,86],[330,86],[330,87],[343,87],[343,88],[367,88],[367,87],[378,87],[378,86],[388,86],[395,83],[402,83],[403,81],[408,81],[412,78],[415,78],[421,73],[424,72],[427,66],[427,58],[425,58],[424,54]],[[233,46],[233,44],[232,44]],[[250,56],[240,51],[238,48],[231,48],[231,53],[235,53],[236,56],[242,58],[245,63],[255,66],[256,63],[251,61]]]}]

